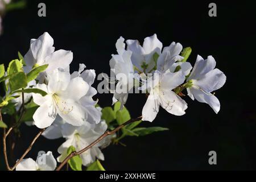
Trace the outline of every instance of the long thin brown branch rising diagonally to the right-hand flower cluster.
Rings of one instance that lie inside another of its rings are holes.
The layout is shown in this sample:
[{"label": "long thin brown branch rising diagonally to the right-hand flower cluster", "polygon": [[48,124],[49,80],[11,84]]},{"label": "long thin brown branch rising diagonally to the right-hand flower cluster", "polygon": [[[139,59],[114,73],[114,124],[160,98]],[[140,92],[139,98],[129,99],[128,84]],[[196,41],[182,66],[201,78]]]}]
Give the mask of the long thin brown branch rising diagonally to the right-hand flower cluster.
[{"label": "long thin brown branch rising diagonally to the right-hand flower cluster", "polygon": [[112,131],[105,131],[104,134],[102,134],[98,139],[94,140],[94,142],[92,142],[91,144],[89,144],[89,146],[83,148],[82,150],[76,152],[71,152],[71,154],[69,154],[64,160],[63,162],[60,164],[60,166],[57,167],[56,171],[60,171],[60,169],[68,162],[69,159],[73,158],[73,156],[76,156],[76,155],[80,155],[82,154],[83,152],[85,152],[86,150],[89,150],[90,148],[92,148],[95,144],[97,144],[98,142],[100,142],[102,139],[104,139],[105,137],[107,137],[108,135],[112,135],[114,134],[115,132],[117,132],[118,130],[122,129],[122,127],[126,126],[126,125],[129,125],[130,123],[133,123],[135,121],[139,121],[141,120],[142,117],[138,117],[138,118],[134,118],[134,119],[130,119],[128,121],[126,121],[125,123],[123,123],[122,125],[116,127],[114,130]]}]

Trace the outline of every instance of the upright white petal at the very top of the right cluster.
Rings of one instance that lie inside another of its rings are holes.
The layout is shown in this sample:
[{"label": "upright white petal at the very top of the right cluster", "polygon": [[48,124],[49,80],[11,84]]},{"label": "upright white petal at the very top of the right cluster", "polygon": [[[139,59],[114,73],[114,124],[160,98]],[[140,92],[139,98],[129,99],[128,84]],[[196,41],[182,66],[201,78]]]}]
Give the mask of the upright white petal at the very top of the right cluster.
[{"label": "upright white petal at the very top of the right cluster", "polygon": [[156,34],[144,39],[143,48],[146,54],[157,52],[160,55],[162,47],[163,44],[158,40]]}]

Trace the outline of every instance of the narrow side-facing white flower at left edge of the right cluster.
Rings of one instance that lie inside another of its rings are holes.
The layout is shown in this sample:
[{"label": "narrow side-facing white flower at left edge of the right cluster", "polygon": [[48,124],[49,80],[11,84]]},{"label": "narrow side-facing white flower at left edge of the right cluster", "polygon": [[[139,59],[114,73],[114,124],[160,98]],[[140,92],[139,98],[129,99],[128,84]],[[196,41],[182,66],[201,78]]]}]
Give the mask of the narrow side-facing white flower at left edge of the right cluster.
[{"label": "narrow side-facing white flower at left edge of the right cluster", "polygon": [[127,101],[129,91],[134,87],[134,69],[131,63],[132,52],[125,50],[124,40],[122,37],[117,40],[115,47],[118,55],[112,55],[112,59],[109,61],[111,71],[118,80],[115,86],[113,104],[120,101],[121,109]]}]

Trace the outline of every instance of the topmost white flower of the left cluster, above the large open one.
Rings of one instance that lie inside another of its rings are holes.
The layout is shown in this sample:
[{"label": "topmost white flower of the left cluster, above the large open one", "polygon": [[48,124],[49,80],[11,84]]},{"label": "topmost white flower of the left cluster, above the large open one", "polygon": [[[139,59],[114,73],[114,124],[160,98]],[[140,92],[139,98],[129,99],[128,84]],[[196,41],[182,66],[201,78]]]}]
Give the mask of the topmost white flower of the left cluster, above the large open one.
[{"label": "topmost white flower of the left cluster, above the large open one", "polygon": [[[69,70],[69,64],[72,59],[73,53],[71,51],[65,51],[63,49],[55,51],[52,37],[48,32],[44,32],[38,39],[31,39],[30,49],[24,56],[27,64],[24,67],[24,71],[28,72],[32,67],[44,64],[48,64],[47,73],[57,68]],[[43,77],[43,74],[40,74],[40,76]]]}]

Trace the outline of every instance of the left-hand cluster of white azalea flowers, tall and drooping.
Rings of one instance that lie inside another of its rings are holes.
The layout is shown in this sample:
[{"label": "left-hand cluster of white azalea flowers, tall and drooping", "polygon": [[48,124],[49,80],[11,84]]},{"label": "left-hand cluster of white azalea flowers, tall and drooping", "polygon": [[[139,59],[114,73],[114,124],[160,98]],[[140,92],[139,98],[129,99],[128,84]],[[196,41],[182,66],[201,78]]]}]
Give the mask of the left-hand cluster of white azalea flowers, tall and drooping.
[{"label": "left-hand cluster of white azalea flowers, tall and drooping", "polygon": [[[24,72],[48,64],[47,69],[35,78],[38,84],[32,80],[27,86],[43,90],[47,93],[46,96],[39,93],[24,94],[24,100],[29,100],[32,96],[35,104],[39,105],[33,119],[34,125],[40,129],[48,127],[43,133],[44,137],[66,139],[58,149],[61,154],[57,158],[58,162],[65,159],[70,146],[79,151],[100,137],[108,128],[106,122],[101,120],[101,109],[96,107],[97,101],[92,98],[97,93],[92,87],[96,77],[95,71],[85,70],[85,65],[80,64],[79,71],[69,73],[72,59],[71,51],[55,51],[53,39],[47,32],[38,39],[31,39],[30,49],[24,56]],[[14,101],[19,106],[22,103],[21,97],[15,98]],[[105,147],[108,143],[110,140],[106,138],[84,152],[81,155],[82,164],[88,166],[96,158],[104,160],[99,147]]]}]

